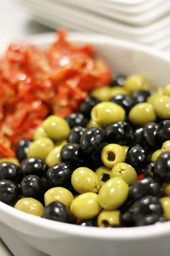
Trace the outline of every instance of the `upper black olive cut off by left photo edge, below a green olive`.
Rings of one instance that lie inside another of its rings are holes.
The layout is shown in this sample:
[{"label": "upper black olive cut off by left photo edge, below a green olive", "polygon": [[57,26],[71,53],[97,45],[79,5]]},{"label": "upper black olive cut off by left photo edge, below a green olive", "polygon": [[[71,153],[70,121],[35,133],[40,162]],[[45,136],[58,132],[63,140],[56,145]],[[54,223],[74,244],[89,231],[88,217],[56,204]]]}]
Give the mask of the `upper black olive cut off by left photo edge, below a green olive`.
[{"label": "upper black olive cut off by left photo edge, below a green olive", "polygon": [[0,180],[12,180],[15,183],[20,183],[23,177],[19,166],[8,162],[0,163]]}]

